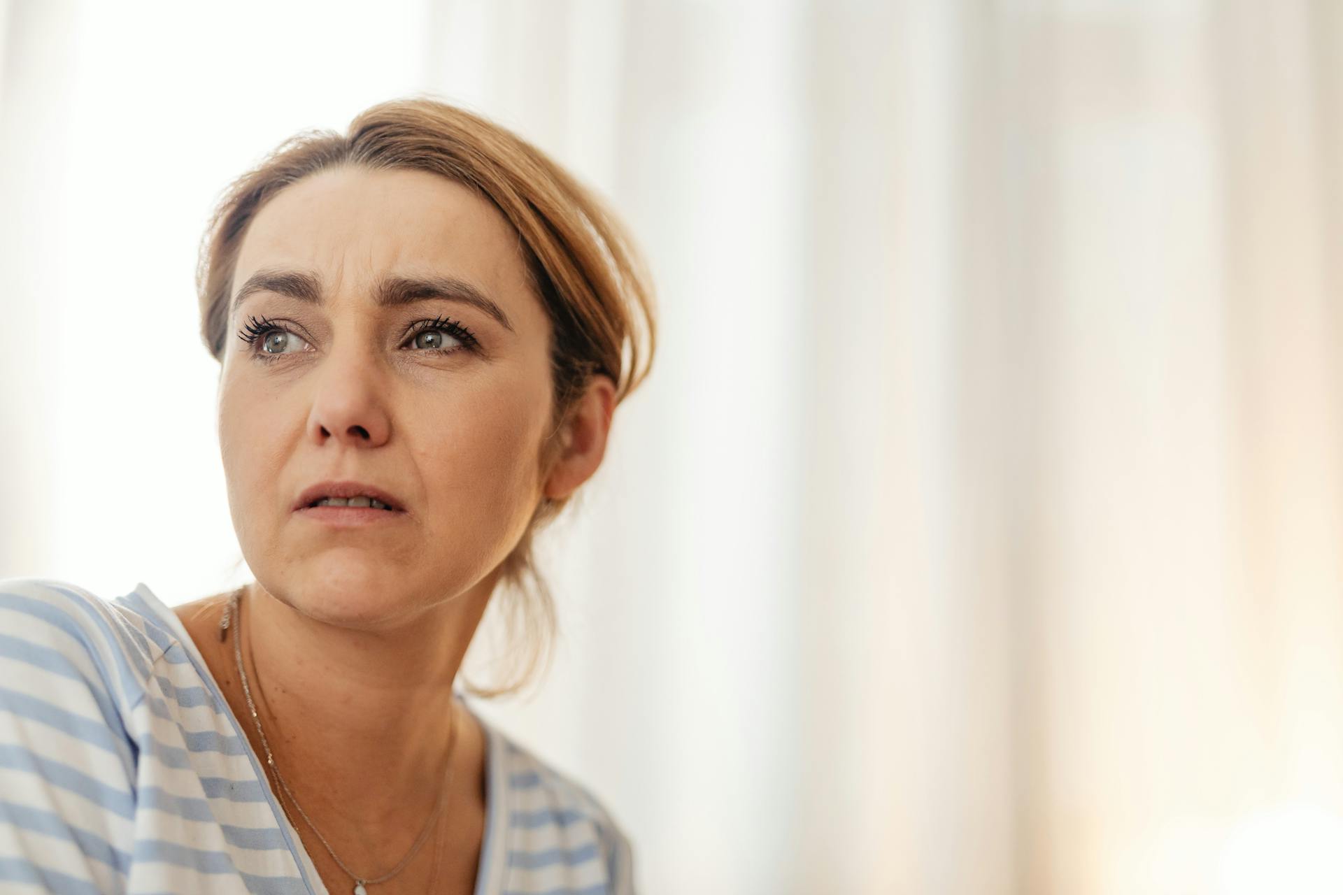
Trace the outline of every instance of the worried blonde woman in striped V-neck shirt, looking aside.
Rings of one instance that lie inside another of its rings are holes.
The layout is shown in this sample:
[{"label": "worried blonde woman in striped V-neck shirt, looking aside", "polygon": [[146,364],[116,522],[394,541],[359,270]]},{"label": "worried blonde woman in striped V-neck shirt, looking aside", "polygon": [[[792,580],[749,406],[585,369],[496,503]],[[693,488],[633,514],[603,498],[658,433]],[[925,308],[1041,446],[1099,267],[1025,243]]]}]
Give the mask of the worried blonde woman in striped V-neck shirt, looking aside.
[{"label": "worried blonde woman in striped V-neck shirt, looking aside", "polygon": [[532,535],[647,373],[619,224],[514,134],[391,102],[236,181],[197,286],[255,581],[0,582],[0,888],[633,891],[603,805],[454,688],[496,589],[547,632]]}]

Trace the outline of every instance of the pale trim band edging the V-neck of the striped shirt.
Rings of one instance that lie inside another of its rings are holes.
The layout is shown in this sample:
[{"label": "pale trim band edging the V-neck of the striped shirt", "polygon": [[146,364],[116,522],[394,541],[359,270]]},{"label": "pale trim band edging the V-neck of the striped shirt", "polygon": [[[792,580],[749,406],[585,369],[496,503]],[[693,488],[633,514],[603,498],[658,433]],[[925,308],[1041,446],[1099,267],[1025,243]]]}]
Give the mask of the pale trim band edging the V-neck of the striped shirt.
[{"label": "pale trim band edging the V-neck of the striped shirt", "polygon": [[[279,827],[281,835],[285,837],[285,844],[289,847],[290,855],[298,864],[299,875],[304,883],[308,886],[313,895],[336,895],[329,888],[326,883],[322,882],[321,874],[317,872],[317,865],[313,863],[312,856],[308,853],[308,848],[304,845],[302,837],[294,825],[289,823],[289,816],[285,809],[281,808],[279,800],[275,796],[275,790],[271,788],[270,776],[262,769],[261,757],[251,746],[251,741],[243,733],[242,722],[234,714],[232,706],[224,698],[223,690],[219,687],[219,682],[215,679],[214,672],[211,672],[210,666],[205,663],[205,656],[201,653],[200,647],[196,640],[187,631],[187,625],[183,624],[177,613],[173,612],[172,607],[165,604],[158,596],[149,589],[149,585],[141,582],[136,584],[132,593],[138,593],[140,597],[154,611],[154,615],[167,623],[172,633],[181,643],[183,648],[187,651],[187,656],[191,659],[192,666],[196,668],[196,674],[201,680],[210,687],[210,694],[215,700],[216,708],[220,710],[228,722],[234,727],[234,733],[242,741],[247,757],[252,764],[252,772],[257,780],[262,784],[262,792],[266,793],[266,801],[270,805],[271,816],[275,824]],[[473,895],[488,895],[489,892],[500,891],[502,884],[502,855],[506,849],[506,843],[504,840],[505,817],[501,800],[506,797],[505,780],[504,780],[504,742],[500,733],[483,718],[481,718],[474,708],[461,699],[462,707],[475,719],[485,733],[485,832],[481,839],[481,855],[475,870],[475,886],[471,888]]]}]

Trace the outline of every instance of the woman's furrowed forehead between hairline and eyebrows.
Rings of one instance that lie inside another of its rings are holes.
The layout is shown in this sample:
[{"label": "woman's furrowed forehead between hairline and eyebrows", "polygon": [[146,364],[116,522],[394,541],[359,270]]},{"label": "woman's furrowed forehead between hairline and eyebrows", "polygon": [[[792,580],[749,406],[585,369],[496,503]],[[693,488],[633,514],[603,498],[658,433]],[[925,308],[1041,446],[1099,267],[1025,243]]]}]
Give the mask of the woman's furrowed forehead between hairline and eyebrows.
[{"label": "woman's furrowed forehead between hairline and eyebrows", "polygon": [[528,291],[518,238],[462,184],[423,170],[336,168],[309,174],[257,213],[234,284],[262,267],[317,274],[333,294],[387,274],[450,275],[501,305]]}]

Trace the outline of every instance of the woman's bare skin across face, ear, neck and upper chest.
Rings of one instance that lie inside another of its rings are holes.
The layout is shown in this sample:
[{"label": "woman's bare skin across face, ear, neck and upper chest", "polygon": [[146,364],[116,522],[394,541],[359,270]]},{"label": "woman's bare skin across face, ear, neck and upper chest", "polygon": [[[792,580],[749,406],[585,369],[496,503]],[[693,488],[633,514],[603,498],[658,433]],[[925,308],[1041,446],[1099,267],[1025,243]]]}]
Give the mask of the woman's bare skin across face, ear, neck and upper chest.
[{"label": "woman's bare skin across face, ear, neck and upper chest", "polygon": [[[483,731],[454,704],[451,684],[500,562],[540,498],[568,495],[600,464],[614,385],[594,378],[543,475],[551,325],[518,238],[486,200],[426,172],[349,166],[287,187],[247,232],[235,294],[261,270],[312,274],[324,299],[248,297],[231,315],[220,370],[230,511],[257,576],[243,597],[242,644],[262,725],[304,810],[369,876],[391,870],[423,828],[458,725],[435,891],[470,892],[483,829]],[[513,329],[442,298],[379,307],[375,284],[393,274],[467,280]],[[252,317],[291,334],[271,330],[248,345],[236,333]],[[478,349],[447,330],[411,333],[439,317],[465,325]],[[266,352],[274,360],[257,357]],[[406,513],[341,530],[293,511],[305,487],[337,479],[377,486]],[[232,639],[218,639],[222,607],[216,594],[176,611],[263,755]],[[349,891],[349,878],[287,808],[328,887]],[[424,891],[434,844],[371,891]]]}]

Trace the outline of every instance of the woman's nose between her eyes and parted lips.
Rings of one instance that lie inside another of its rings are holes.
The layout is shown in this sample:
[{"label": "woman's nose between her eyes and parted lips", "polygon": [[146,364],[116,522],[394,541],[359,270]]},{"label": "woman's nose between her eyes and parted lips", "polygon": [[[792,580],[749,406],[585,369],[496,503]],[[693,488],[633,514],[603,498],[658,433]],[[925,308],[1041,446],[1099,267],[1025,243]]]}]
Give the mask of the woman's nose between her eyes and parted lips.
[{"label": "woman's nose between her eyes and parted lips", "polygon": [[373,360],[356,346],[334,350],[317,372],[308,436],[318,445],[332,439],[355,448],[377,447],[391,435],[385,389]]}]

